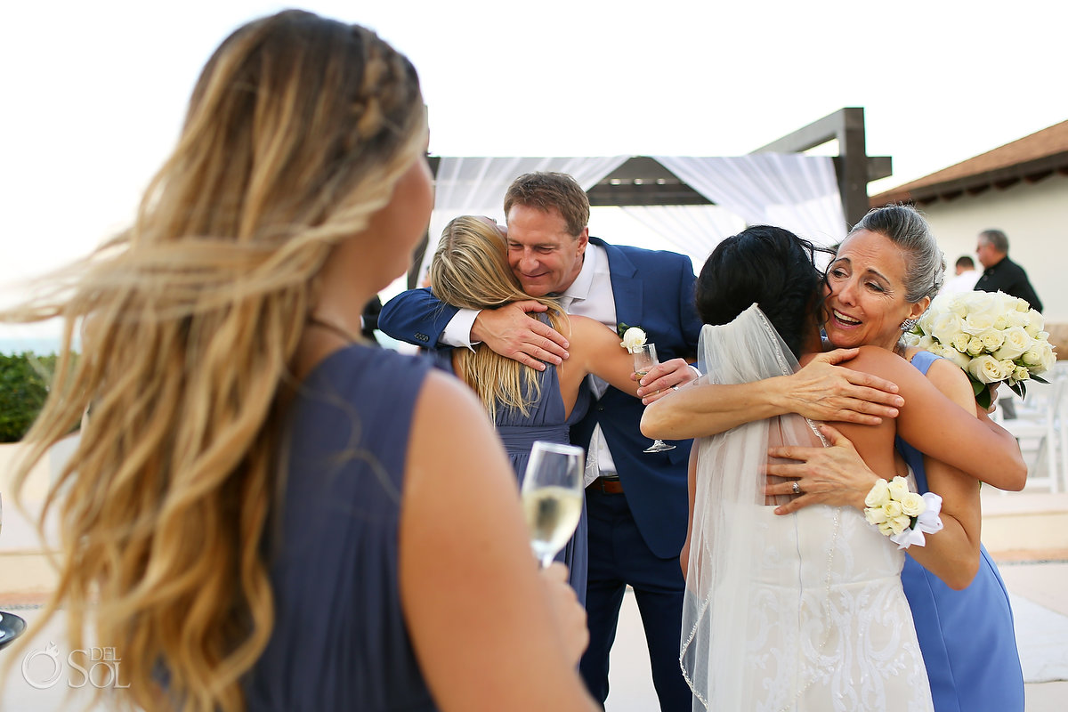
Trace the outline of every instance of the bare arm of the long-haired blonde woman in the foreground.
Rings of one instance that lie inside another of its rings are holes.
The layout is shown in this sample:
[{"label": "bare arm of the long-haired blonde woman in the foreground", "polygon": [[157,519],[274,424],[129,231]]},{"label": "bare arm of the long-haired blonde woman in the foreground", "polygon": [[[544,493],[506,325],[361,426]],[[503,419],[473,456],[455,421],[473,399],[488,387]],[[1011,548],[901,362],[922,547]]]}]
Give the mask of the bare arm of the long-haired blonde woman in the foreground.
[{"label": "bare arm of the long-haired blonde woman in the foreground", "polygon": [[560,576],[539,574],[527,537],[515,476],[481,406],[431,374],[409,443],[399,580],[444,712],[597,709],[576,670],[581,608]]}]

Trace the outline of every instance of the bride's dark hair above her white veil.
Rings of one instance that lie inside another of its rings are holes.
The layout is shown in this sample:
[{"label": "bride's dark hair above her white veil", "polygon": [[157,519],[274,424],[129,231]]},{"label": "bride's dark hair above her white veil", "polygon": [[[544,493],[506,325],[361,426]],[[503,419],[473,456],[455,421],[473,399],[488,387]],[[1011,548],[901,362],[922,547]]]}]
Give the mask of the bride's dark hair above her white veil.
[{"label": "bride's dark hair above her white veil", "polygon": [[705,323],[728,323],[756,302],[800,358],[820,301],[817,252],[833,254],[771,225],[753,225],[726,238],[701,268],[697,315]]}]

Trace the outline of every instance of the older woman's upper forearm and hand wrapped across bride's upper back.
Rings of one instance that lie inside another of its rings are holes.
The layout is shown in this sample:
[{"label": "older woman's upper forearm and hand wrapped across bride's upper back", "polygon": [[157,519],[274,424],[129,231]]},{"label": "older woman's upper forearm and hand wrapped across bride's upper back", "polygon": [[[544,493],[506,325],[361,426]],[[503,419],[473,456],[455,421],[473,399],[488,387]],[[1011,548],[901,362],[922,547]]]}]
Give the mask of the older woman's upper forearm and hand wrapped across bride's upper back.
[{"label": "older woman's upper forearm and hand wrapped across bride's upper back", "polygon": [[855,354],[857,349],[820,353],[796,374],[752,383],[698,382],[649,405],[642,416],[642,433],[670,440],[697,438],[786,413],[862,425],[896,416],[904,400],[893,382],[835,365]]}]

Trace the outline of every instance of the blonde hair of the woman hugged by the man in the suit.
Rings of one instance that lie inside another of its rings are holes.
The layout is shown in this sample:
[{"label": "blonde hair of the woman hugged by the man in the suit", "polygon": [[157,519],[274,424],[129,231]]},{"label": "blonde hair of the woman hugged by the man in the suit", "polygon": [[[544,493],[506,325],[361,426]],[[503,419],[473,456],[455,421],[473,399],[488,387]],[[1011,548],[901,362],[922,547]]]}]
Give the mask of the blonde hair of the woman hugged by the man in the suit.
[{"label": "blonde hair of the woman hugged by the man in the suit", "polygon": [[[522,290],[508,266],[504,237],[487,221],[461,216],[445,225],[430,263],[434,295],[452,306],[475,310],[537,301],[549,307],[549,325],[561,331],[567,316],[559,302],[549,297],[531,297]],[[473,351],[456,349],[454,353],[457,375],[478,394],[491,418],[499,407],[530,414],[531,405],[541,395],[536,370],[494,353],[485,344]]]}]

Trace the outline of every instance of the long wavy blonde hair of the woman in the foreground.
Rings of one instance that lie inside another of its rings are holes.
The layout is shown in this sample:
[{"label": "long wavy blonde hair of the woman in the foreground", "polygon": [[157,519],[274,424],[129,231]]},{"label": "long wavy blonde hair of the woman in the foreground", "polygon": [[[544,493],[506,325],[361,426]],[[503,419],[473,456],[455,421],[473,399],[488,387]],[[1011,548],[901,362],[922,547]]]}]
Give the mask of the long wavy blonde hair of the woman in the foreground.
[{"label": "long wavy blonde hair of the woman in the foreground", "polygon": [[61,551],[45,616],[65,610],[74,649],[87,623],[115,648],[122,703],[244,709],[273,627],[264,544],[290,364],[324,263],[389,203],[425,122],[414,68],[371,31],[252,21],[205,66],[134,226],[0,317],[64,323],[17,487],[91,407],[46,500]]}]

